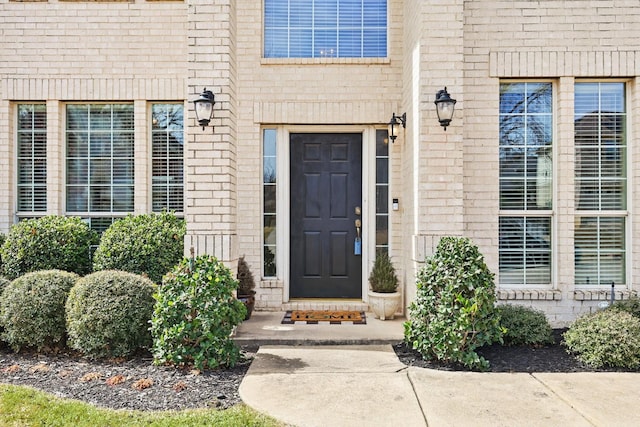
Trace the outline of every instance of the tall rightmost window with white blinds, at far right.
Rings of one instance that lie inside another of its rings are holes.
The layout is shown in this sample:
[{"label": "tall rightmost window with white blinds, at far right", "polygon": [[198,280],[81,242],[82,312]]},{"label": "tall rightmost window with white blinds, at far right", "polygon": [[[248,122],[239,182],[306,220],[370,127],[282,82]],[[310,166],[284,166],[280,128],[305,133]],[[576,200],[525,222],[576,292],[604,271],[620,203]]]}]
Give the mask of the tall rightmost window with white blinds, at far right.
[{"label": "tall rightmost window with white blinds, at far right", "polygon": [[626,283],[625,84],[575,85],[575,281]]}]

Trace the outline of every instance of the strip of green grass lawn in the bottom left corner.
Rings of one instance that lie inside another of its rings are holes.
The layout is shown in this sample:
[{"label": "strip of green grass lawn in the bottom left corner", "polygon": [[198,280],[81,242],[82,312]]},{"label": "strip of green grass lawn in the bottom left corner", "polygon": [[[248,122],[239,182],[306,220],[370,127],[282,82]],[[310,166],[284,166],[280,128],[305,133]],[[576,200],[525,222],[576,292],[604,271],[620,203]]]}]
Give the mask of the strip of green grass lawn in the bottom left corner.
[{"label": "strip of green grass lawn in the bottom left corner", "polygon": [[0,384],[0,426],[216,426],[279,427],[282,424],[238,405],[224,411],[115,411],[60,399],[29,387]]}]

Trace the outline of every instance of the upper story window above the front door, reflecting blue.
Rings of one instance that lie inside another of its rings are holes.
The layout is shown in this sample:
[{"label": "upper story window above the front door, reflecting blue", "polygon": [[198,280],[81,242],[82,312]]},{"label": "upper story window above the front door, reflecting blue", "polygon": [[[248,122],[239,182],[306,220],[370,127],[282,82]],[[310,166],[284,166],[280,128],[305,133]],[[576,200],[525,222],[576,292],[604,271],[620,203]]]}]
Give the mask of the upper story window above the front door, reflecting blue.
[{"label": "upper story window above the front door, reflecting blue", "polygon": [[386,0],[265,0],[265,58],[384,58]]}]

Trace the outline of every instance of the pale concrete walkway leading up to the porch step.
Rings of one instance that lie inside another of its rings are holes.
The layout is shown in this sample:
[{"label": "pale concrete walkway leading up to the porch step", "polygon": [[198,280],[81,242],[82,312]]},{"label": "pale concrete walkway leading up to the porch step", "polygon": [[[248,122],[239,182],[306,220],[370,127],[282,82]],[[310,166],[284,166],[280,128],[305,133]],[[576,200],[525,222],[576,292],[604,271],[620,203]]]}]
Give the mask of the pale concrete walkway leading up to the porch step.
[{"label": "pale concrete walkway leading up to the porch step", "polygon": [[[290,336],[287,345],[263,345],[260,329],[268,324],[269,316],[249,328],[260,349],[240,385],[240,396],[247,405],[287,425],[640,425],[640,374],[407,368],[389,344],[309,346]],[[307,339],[324,336],[320,325],[295,326],[296,334]],[[332,325],[333,332],[347,326],[356,325]],[[328,329],[324,338],[339,341],[330,332]],[[245,336],[249,333],[245,325]],[[366,333],[372,338],[377,335],[374,328]],[[319,341],[314,343],[323,339]]]}]

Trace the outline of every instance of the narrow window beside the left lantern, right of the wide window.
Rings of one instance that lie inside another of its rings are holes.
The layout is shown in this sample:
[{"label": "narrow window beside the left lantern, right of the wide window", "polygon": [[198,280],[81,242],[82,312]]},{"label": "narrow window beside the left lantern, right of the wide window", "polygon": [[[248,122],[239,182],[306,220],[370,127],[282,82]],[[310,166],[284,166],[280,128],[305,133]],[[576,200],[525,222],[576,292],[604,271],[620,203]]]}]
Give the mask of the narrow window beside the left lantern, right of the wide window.
[{"label": "narrow window beside the left lantern, right of the wide window", "polygon": [[152,209],[184,211],[184,104],[151,106]]}]

